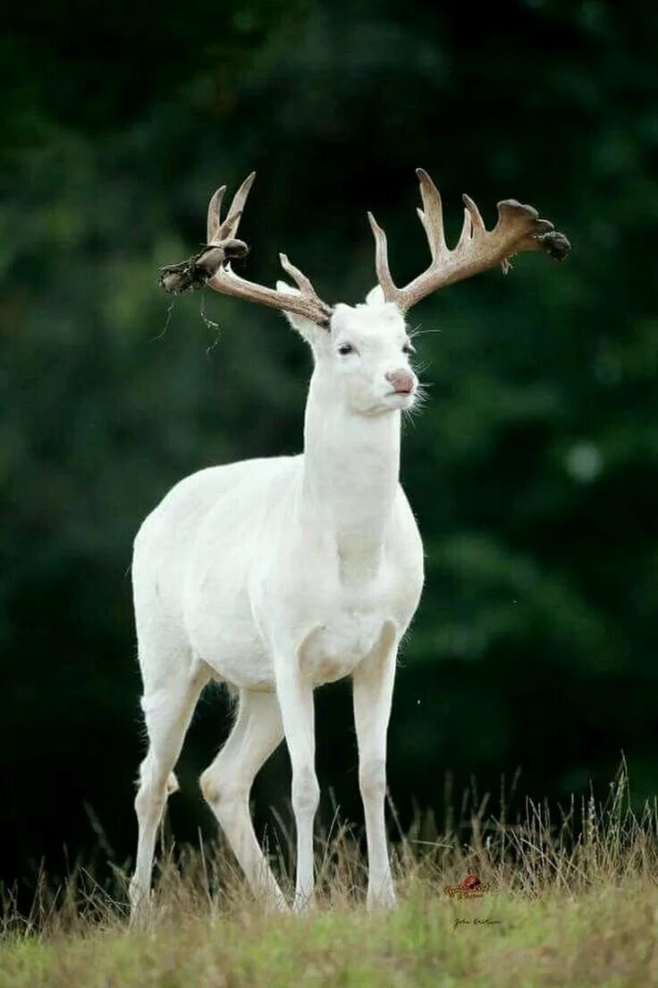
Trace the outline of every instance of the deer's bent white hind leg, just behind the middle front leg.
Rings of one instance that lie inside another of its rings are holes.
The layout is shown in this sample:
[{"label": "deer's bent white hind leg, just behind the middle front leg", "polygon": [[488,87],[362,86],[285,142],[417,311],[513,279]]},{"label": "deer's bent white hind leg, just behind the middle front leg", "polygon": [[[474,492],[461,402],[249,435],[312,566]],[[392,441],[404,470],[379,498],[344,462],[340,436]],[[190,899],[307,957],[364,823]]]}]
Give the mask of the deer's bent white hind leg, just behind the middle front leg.
[{"label": "deer's bent white hind leg, just behind the middle front leg", "polygon": [[256,841],[249,808],[256,774],[282,738],[276,695],[241,690],[233,730],[200,783],[256,897],[284,910],[285,899]]}]

